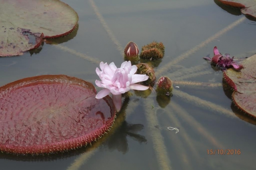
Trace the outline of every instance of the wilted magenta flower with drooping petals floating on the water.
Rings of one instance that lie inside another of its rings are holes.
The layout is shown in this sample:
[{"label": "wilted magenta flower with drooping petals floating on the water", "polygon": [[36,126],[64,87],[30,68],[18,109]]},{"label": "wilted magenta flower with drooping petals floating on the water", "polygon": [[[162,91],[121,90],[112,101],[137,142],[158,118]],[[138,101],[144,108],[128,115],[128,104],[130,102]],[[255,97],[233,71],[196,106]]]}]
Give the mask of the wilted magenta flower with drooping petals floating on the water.
[{"label": "wilted magenta flower with drooping petals floating on the water", "polygon": [[217,47],[213,48],[214,56],[212,59],[210,57],[203,57],[206,60],[212,61],[213,64],[219,66],[221,69],[227,69],[230,67],[234,67],[236,70],[240,70],[243,68],[242,65],[237,64],[233,59],[234,57],[230,58],[229,54],[225,54],[224,56],[219,52]]}]

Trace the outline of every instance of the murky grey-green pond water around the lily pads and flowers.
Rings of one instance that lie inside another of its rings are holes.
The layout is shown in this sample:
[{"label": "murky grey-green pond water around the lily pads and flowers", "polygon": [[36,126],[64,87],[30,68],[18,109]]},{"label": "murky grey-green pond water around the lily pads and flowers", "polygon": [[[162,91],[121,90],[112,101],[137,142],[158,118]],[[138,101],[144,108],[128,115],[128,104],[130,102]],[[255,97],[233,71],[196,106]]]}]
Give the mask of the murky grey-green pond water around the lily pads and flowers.
[{"label": "murky grey-green pond water around the lily pads and flowers", "polygon": [[[0,154],[1,169],[255,169],[256,121],[236,109],[222,72],[202,59],[212,57],[214,46],[241,58],[255,54],[255,21],[213,0],[64,2],[78,13],[75,32],[22,56],[0,58],[1,86],[43,74],[66,74],[95,85],[97,60],[120,66],[124,59],[119,49],[129,41],[141,49],[156,40],[165,46],[165,57],[155,61],[157,78],[168,75],[179,88],[174,87],[170,102],[156,98],[154,91],[147,98],[134,94],[126,99],[112,131],[92,147],[44,156]],[[96,62],[86,60],[88,56]],[[169,62],[173,64],[167,68]],[[221,155],[225,149],[233,155]]]}]

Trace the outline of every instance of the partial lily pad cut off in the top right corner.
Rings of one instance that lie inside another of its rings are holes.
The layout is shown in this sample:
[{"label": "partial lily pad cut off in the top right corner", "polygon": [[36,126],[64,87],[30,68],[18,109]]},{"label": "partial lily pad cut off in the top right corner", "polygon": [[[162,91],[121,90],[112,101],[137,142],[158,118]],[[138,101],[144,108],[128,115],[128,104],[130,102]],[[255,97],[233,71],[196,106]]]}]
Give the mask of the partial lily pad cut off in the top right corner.
[{"label": "partial lily pad cut off in the top right corner", "polygon": [[221,3],[241,8],[245,15],[256,18],[256,0],[219,0]]}]

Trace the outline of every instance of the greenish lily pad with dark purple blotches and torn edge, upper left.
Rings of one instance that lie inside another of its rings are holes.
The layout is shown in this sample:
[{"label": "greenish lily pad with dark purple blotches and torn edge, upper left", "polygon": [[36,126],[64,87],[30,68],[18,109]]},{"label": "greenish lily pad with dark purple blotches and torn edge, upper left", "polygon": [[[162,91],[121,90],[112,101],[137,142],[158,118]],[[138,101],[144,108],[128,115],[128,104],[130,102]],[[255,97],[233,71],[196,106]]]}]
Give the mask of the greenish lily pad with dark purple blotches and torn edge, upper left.
[{"label": "greenish lily pad with dark purple blotches and torn edge, upper left", "polygon": [[43,38],[72,32],[78,15],[59,0],[0,0],[0,56],[21,55]]}]

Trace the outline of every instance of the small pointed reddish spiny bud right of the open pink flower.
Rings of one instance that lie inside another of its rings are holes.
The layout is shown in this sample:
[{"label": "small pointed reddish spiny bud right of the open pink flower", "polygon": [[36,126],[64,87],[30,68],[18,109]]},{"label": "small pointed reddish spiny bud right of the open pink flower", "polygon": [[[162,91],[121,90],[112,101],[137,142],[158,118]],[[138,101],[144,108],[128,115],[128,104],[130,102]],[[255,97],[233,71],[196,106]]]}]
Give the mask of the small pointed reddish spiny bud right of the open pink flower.
[{"label": "small pointed reddish spiny bud right of the open pink flower", "polygon": [[168,77],[160,77],[157,82],[156,92],[158,95],[167,95],[169,96],[172,93],[172,81]]}]

